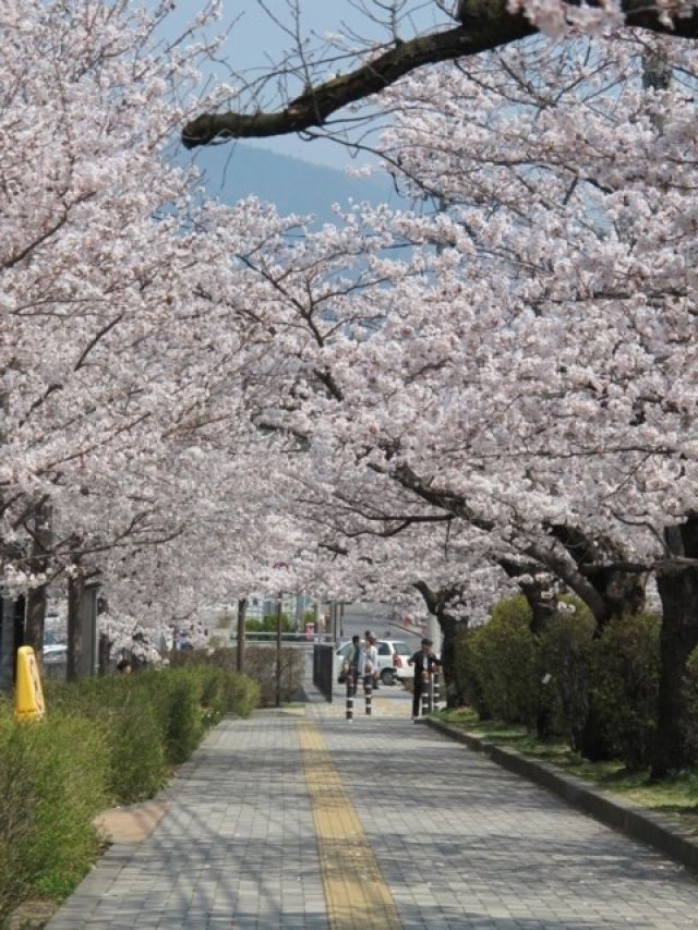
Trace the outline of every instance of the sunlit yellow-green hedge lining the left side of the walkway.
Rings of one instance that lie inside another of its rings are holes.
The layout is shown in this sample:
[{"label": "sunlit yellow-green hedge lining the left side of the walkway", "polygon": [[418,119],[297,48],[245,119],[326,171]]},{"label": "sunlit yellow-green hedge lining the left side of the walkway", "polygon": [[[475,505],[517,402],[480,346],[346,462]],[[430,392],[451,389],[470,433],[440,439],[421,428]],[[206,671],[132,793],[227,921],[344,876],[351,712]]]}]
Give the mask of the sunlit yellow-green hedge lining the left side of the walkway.
[{"label": "sunlit yellow-green hedge lining the left side of the walkway", "polygon": [[0,700],[0,915],[63,897],[89,868],[95,814],[152,797],[225,713],[246,716],[258,686],[205,666],[45,684],[47,716],[17,723]]}]

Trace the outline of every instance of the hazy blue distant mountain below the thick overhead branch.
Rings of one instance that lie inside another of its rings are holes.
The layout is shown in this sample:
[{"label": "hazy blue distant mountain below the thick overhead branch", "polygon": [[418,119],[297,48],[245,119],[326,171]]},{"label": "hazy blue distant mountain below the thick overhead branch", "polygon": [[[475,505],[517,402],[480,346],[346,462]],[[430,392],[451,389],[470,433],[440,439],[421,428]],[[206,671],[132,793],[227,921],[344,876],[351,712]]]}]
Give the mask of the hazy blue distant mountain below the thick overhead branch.
[{"label": "hazy blue distant mountain below the thick overhead branch", "polygon": [[200,149],[196,164],[209,196],[232,204],[255,195],[276,204],[281,215],[312,214],[317,224],[333,219],[333,204],[369,201],[405,206],[387,176],[353,178],[335,168],[238,143]]}]

